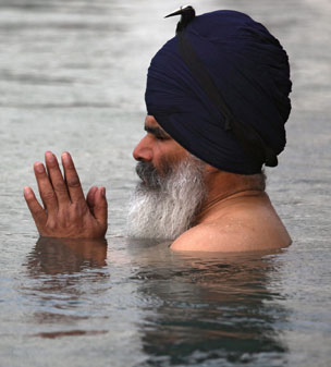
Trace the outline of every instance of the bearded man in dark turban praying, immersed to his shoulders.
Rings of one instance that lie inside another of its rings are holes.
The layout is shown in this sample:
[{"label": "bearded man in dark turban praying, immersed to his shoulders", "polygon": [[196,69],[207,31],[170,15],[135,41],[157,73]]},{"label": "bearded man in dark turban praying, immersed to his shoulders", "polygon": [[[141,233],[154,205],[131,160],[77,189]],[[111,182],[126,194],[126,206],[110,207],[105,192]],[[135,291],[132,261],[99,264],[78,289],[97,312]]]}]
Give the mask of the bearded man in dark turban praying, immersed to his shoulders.
[{"label": "bearded man in dark turban praying, immersed to his shoulders", "polygon": [[[259,23],[234,11],[195,17],[148,70],[146,136],[134,149],[142,179],[130,210],[133,236],[173,240],[174,250],[243,252],[289,246],[265,193],[263,164],[285,146],[291,102],[287,56]],[[103,237],[105,187],[85,199],[74,163],[52,152],[35,163],[44,208],[24,195],[41,236]]]}]

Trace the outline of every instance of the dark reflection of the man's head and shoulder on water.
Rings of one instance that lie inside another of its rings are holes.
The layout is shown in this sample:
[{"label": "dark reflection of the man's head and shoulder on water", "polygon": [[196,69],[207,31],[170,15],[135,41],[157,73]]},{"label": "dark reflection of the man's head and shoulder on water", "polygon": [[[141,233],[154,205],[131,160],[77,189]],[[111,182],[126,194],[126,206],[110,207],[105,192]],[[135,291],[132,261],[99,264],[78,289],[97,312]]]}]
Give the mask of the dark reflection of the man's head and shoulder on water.
[{"label": "dark reflection of the man's head and shoulder on water", "polygon": [[279,271],[272,260],[261,254],[181,260],[168,274],[154,267],[136,274],[145,280],[143,296],[157,299],[144,320],[149,364],[284,365],[287,348],[275,325],[286,322],[286,311],[272,305],[280,297],[268,289],[270,272]]}]

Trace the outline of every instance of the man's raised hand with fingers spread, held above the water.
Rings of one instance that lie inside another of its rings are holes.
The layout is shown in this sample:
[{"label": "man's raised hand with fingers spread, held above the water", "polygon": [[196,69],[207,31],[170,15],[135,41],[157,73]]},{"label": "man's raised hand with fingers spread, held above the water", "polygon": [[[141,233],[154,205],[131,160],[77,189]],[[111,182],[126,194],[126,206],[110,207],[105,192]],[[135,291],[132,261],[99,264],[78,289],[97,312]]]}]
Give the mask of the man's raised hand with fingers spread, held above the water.
[{"label": "man's raised hand with fingers spread, held above the water", "polygon": [[30,187],[24,197],[41,236],[102,238],[107,232],[105,187],[93,186],[85,198],[74,162],[62,154],[64,178],[56,156],[46,151],[45,162],[35,162],[34,171],[44,207]]}]

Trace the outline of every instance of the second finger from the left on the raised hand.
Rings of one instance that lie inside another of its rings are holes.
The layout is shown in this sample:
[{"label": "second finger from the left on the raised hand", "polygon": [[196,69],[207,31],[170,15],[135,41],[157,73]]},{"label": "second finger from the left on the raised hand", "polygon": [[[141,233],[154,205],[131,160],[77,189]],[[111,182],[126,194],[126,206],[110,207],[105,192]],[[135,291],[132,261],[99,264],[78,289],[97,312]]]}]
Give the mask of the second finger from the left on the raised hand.
[{"label": "second finger from the left on the raised hand", "polygon": [[39,194],[47,210],[53,211],[58,209],[58,200],[53,187],[46,173],[45,167],[41,162],[34,164],[35,175],[39,188]]}]

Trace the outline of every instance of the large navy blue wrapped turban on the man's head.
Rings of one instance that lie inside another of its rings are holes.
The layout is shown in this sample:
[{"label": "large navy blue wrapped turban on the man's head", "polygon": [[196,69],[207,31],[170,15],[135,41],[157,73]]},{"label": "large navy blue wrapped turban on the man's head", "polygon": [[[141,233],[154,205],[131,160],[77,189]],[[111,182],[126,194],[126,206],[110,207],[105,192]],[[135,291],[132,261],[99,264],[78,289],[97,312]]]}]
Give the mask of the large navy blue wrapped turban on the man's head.
[{"label": "large navy blue wrapped turban on the man's head", "polygon": [[278,39],[246,14],[216,11],[193,19],[157,52],[145,99],[147,113],[191,154],[255,174],[277,166],[285,147],[291,86]]}]

